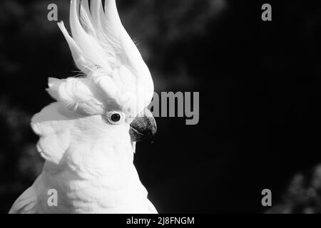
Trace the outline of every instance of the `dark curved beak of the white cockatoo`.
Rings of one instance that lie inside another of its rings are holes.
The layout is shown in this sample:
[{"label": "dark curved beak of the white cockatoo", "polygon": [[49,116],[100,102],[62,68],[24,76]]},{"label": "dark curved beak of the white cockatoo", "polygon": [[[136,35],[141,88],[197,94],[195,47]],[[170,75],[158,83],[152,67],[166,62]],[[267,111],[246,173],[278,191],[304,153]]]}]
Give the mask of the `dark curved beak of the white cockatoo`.
[{"label": "dark curved beak of the white cockatoo", "polygon": [[157,132],[156,120],[148,108],[138,115],[131,123],[129,135],[133,142],[151,139],[153,142]]}]

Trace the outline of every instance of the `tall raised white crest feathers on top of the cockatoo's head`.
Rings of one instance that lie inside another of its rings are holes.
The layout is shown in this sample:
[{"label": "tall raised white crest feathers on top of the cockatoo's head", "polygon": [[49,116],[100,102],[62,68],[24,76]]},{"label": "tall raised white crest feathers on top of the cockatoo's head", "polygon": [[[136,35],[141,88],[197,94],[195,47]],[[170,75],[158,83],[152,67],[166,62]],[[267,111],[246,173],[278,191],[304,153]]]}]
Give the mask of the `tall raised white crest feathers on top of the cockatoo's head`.
[{"label": "tall raised white crest feathers on top of the cockatoo's head", "polygon": [[91,6],[88,0],[71,0],[71,35],[63,22],[58,26],[77,68],[89,80],[86,85],[83,78],[51,78],[48,91],[55,99],[76,110],[88,102],[95,105],[86,107],[102,107],[90,114],[101,113],[111,103],[133,115],[148,106],[153,98],[151,73],[121,24],[115,0],[105,1],[105,11],[99,0],[91,1]]}]

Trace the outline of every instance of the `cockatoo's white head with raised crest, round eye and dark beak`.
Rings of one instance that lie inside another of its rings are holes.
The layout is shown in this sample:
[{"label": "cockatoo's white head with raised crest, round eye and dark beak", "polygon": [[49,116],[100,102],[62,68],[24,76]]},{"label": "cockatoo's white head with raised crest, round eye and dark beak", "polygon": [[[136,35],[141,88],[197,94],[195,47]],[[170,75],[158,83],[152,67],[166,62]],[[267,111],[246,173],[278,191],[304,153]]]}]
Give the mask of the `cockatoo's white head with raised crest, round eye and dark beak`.
[{"label": "cockatoo's white head with raised crest, round eye and dark beak", "polygon": [[88,0],[71,0],[70,25],[71,36],[58,23],[80,74],[49,78],[47,91],[57,103],[31,124],[41,136],[39,151],[56,163],[74,145],[135,146],[156,133],[146,108],[153,98],[151,73],[121,24],[115,0],[104,7],[98,0],[90,6]]}]

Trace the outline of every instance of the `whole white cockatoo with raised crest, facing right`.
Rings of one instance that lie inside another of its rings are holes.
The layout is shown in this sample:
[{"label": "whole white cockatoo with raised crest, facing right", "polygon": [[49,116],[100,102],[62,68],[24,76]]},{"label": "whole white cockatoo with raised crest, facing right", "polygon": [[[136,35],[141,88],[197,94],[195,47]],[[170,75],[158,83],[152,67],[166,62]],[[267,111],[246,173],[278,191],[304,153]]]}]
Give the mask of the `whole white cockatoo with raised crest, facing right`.
[{"label": "whole white cockatoo with raised crest, facing right", "polygon": [[153,80],[116,1],[71,0],[71,36],[58,26],[81,76],[49,78],[56,102],[31,120],[44,169],[10,213],[157,213],[133,165],[156,133]]}]

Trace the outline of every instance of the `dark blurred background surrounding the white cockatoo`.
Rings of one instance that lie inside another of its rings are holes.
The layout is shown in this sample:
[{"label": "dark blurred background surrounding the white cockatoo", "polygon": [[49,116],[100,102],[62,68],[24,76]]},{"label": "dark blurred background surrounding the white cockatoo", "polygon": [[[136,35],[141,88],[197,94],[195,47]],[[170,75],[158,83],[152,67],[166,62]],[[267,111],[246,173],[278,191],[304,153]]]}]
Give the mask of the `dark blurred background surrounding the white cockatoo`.
[{"label": "dark blurred background surrounding the white cockatoo", "polygon": [[[0,3],[0,212],[41,172],[34,113],[53,100],[48,77],[74,76],[47,6]],[[263,3],[272,21],[261,20]],[[199,91],[200,123],[157,118],[135,164],[159,212],[320,212],[321,2],[118,0],[156,92]],[[272,208],[261,191],[272,190]]]}]

